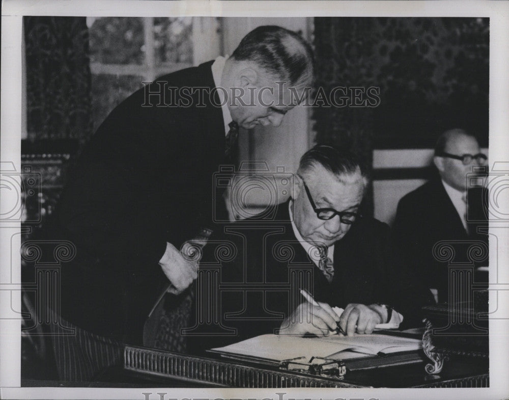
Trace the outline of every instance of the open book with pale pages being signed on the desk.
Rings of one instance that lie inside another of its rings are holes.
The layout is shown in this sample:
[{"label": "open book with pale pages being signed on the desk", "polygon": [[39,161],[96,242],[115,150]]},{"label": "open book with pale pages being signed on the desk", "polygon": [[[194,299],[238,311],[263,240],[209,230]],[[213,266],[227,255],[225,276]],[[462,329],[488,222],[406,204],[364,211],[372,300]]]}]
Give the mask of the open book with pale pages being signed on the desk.
[{"label": "open book with pale pages being signed on the desk", "polygon": [[420,339],[383,334],[330,335],[314,338],[268,334],[211,351],[225,357],[280,362],[297,357],[305,357],[307,361],[312,357],[343,360],[380,353],[416,351],[421,346]]}]

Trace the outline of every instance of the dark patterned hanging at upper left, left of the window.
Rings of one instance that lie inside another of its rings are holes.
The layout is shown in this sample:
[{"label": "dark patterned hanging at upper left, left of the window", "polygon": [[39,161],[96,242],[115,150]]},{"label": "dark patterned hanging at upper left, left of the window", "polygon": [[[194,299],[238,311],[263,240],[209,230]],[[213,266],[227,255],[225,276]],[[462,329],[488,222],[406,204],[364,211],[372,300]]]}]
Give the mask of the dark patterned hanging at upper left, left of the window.
[{"label": "dark patterned hanging at upper left, left of the window", "polygon": [[29,139],[91,135],[86,18],[24,17]]}]

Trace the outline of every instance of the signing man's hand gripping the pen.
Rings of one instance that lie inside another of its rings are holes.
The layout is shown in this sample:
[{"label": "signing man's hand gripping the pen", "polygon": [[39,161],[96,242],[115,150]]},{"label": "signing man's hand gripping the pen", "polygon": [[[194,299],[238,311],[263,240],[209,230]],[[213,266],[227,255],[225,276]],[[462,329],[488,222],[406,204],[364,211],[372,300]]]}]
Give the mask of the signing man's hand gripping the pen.
[{"label": "signing man's hand gripping the pen", "polygon": [[282,322],[280,335],[328,335],[329,331],[337,329],[340,320],[337,314],[326,303],[314,306],[308,302],[301,303],[292,314]]}]

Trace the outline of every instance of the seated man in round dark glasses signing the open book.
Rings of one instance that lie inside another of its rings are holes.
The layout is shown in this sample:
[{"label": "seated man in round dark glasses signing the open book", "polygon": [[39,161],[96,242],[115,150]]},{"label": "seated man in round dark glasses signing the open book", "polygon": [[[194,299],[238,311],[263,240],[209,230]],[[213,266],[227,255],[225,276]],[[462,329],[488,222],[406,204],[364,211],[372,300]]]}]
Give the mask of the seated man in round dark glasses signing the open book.
[{"label": "seated man in round dark glasses signing the open book", "polygon": [[[317,145],[302,156],[288,201],[262,220],[224,227],[222,240],[236,248],[233,259],[221,262],[221,285],[229,288],[221,292],[223,324],[238,333],[231,341],[421,324],[420,307],[431,295],[393,269],[388,226],[359,215],[366,185],[356,155]],[[207,247],[201,268],[210,254],[217,259],[214,246]],[[320,305],[306,303],[300,289]],[[345,308],[341,318],[334,306]]]}]

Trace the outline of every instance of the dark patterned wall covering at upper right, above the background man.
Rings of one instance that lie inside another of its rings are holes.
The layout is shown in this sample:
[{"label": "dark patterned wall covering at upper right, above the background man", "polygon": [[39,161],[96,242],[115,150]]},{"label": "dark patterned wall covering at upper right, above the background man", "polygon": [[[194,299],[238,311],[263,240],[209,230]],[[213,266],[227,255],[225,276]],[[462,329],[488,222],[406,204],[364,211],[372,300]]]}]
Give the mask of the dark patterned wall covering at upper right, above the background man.
[{"label": "dark patterned wall covering at upper right, above the background man", "polygon": [[316,109],[317,141],[432,148],[458,126],[488,145],[488,18],[315,18],[315,49],[319,87],[379,87],[381,100]]}]

